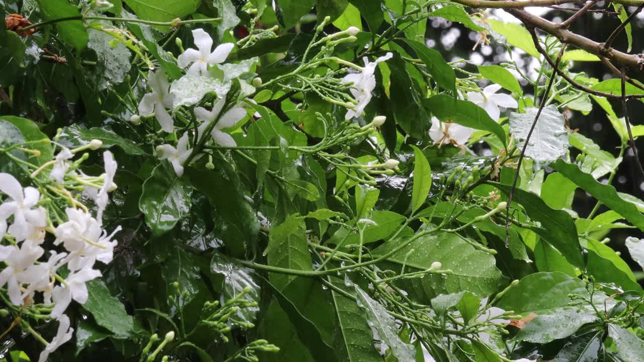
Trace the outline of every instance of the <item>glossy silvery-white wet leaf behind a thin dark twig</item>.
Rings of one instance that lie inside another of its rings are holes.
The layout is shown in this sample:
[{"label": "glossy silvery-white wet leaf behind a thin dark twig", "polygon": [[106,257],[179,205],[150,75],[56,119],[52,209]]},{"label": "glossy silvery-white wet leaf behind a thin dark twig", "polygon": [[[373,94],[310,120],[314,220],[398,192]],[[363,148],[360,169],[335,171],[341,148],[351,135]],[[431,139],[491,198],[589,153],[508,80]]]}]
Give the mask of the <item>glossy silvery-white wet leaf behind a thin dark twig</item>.
[{"label": "glossy silvery-white wet leaf behind a thin dark twig", "polygon": [[[527,135],[535,121],[538,108],[526,108],[526,113],[510,113],[510,132],[515,135],[516,146],[523,148]],[[552,162],[562,157],[568,150],[568,130],[564,116],[554,104],[541,112],[535,129],[527,144],[526,156],[536,162]]]}]

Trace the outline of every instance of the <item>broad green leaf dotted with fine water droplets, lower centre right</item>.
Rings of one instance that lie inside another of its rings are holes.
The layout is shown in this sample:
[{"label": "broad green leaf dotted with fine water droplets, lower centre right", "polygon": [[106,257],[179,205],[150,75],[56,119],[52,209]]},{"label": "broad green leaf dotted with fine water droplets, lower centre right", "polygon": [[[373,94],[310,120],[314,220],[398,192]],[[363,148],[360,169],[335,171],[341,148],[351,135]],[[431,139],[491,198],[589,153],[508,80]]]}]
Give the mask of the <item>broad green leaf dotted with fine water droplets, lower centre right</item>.
[{"label": "broad green leaf dotted with fine water droplets, lower centre right", "polygon": [[[372,253],[381,256],[399,247],[409,236],[397,238],[377,247]],[[407,256],[407,253],[413,252]],[[396,252],[388,262],[406,265],[407,269],[428,269],[433,262],[442,263],[450,274],[426,274],[422,279],[411,280],[413,289],[421,289],[428,298],[467,290],[488,296],[504,283],[497,269],[494,256],[475,249],[457,234],[440,233],[421,236],[410,245]]]}]

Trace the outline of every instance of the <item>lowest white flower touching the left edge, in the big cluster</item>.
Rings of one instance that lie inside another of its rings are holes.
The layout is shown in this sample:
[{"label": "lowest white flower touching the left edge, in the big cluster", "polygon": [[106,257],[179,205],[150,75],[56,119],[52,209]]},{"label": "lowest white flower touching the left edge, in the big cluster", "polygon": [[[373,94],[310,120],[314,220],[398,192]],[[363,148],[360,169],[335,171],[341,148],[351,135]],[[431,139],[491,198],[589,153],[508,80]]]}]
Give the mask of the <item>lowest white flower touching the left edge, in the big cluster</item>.
[{"label": "lowest white flower touching the left edge, in the big cluster", "polygon": [[16,245],[0,245],[0,261],[6,263],[5,269],[0,272],[0,287],[7,285],[9,299],[15,305],[22,305],[21,283],[33,278],[33,263],[44,253],[44,249],[31,243]]}]

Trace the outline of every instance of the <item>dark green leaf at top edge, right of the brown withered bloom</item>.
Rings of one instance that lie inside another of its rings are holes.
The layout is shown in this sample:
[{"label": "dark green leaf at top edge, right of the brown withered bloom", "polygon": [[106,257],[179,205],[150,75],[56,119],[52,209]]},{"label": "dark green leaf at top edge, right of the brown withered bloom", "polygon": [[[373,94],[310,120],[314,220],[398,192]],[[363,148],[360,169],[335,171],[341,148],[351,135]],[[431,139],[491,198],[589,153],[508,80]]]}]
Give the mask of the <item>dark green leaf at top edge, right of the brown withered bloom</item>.
[{"label": "dark green leaf at top edge, right of the brown withered bloom", "polygon": [[[67,0],[38,0],[39,9],[44,20],[61,19],[62,17],[81,17],[76,6]],[[55,24],[59,37],[65,43],[70,44],[76,50],[82,50],[87,46],[89,36],[81,20],[60,21]]]}]

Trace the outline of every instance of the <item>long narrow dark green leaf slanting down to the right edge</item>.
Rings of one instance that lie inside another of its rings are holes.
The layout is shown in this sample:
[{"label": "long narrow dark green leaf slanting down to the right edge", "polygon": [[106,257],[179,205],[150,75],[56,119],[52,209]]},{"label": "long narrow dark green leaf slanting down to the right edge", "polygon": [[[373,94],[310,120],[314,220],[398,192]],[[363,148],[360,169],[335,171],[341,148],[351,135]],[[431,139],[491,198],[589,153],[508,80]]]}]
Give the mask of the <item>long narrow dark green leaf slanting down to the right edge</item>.
[{"label": "long narrow dark green leaf slanting down to the right edge", "polygon": [[582,172],[575,164],[568,164],[564,160],[557,160],[552,165],[554,169],[566,176],[577,186],[582,187],[587,193],[599,200],[602,204],[616,211],[631,224],[644,230],[644,215],[639,213],[637,207],[630,202],[622,200],[618,195],[615,187],[601,184],[591,175]]}]

